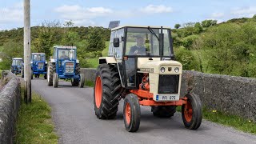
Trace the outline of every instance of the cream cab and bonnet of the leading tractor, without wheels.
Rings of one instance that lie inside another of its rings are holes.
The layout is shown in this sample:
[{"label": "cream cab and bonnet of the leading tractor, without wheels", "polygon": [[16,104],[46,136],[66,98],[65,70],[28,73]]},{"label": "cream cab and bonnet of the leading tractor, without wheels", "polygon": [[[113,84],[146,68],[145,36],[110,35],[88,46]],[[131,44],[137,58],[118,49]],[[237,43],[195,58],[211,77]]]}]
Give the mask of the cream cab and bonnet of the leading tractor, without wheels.
[{"label": "cream cab and bonnet of the leading tractor, without wheels", "polygon": [[[108,54],[109,57],[116,59],[122,86],[126,89],[139,90],[144,85],[142,79],[150,77],[152,84],[148,85],[147,90],[154,93],[155,100],[158,88],[161,92],[163,87],[166,89],[165,93],[176,94],[175,99],[179,98],[182,64],[174,61],[170,28],[150,26],[115,28],[111,32]],[[162,86],[158,86],[158,83]],[[167,90],[168,87],[172,90]]]}]

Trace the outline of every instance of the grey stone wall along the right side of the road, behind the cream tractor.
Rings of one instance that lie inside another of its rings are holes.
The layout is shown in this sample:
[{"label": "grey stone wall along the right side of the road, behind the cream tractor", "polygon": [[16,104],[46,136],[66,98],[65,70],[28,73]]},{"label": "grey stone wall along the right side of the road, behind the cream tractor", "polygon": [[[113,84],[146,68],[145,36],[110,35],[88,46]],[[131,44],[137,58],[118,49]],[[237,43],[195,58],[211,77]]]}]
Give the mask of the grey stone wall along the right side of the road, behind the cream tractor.
[{"label": "grey stone wall along the right side of the road, behind the cream tractor", "polygon": [[[94,82],[95,69],[82,69]],[[183,71],[181,95],[198,94],[203,106],[256,121],[256,79]]]}]

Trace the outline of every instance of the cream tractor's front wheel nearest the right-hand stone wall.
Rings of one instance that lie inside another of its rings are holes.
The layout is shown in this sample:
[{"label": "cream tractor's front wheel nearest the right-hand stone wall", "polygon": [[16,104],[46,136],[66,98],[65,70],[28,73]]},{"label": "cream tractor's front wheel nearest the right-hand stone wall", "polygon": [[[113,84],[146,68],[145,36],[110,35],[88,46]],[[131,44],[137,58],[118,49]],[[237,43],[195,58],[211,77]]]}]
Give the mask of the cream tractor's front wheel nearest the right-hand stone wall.
[{"label": "cream tractor's front wheel nearest the right-hand stone wall", "polygon": [[182,105],[182,120],[187,129],[197,130],[202,122],[202,102],[197,94],[186,94],[186,105]]}]

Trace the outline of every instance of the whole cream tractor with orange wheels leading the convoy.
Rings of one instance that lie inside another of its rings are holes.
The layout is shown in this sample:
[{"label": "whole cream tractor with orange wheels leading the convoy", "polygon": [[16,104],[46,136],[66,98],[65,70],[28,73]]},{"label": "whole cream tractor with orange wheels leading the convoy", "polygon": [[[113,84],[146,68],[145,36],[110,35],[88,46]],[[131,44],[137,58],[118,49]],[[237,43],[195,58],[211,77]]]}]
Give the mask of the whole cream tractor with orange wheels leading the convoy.
[{"label": "whole cream tractor with orange wheels leading the convoy", "polygon": [[108,57],[99,58],[95,74],[94,110],[99,119],[116,117],[122,98],[126,130],[139,129],[140,106],[151,106],[156,117],[174,116],[182,106],[186,128],[197,130],[202,103],[197,94],[180,95],[182,64],[174,61],[167,27],[120,26],[111,30]]}]

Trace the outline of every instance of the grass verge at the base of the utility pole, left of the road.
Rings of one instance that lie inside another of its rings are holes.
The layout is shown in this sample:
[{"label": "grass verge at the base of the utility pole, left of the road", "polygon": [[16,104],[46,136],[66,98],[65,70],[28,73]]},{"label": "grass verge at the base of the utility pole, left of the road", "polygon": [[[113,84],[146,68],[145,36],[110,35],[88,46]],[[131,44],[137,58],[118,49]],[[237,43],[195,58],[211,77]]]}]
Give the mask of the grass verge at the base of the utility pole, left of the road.
[{"label": "grass verge at the base of the utility pole, left of the road", "polygon": [[35,93],[32,93],[31,104],[26,105],[22,101],[16,124],[15,143],[58,143],[50,110],[50,106]]}]

